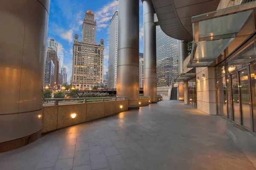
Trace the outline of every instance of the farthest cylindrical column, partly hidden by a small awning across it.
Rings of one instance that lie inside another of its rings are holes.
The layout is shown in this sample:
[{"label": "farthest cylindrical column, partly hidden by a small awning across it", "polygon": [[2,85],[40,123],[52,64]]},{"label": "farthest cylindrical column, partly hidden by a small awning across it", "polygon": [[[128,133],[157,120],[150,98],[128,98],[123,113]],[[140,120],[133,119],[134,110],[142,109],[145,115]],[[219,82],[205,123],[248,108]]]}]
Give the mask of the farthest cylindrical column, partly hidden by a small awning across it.
[{"label": "farthest cylindrical column, partly hidden by a small awning across it", "polygon": [[[187,48],[186,42],[178,40],[177,48],[178,48],[178,74],[182,74],[183,73],[183,61],[188,56],[188,48]],[[184,100],[184,98],[186,98],[186,96],[184,96],[184,83],[179,82],[178,88],[179,88],[179,99],[178,100]]]}]

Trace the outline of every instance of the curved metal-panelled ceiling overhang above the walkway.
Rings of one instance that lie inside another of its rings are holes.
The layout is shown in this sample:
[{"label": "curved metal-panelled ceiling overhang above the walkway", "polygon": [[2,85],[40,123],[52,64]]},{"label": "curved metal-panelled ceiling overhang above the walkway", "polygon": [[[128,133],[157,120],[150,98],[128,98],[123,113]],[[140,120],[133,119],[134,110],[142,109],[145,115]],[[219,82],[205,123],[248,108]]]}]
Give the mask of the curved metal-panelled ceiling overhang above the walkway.
[{"label": "curved metal-panelled ceiling overhang above the walkway", "polygon": [[178,40],[192,41],[191,17],[215,11],[220,0],[152,0],[163,32]]}]

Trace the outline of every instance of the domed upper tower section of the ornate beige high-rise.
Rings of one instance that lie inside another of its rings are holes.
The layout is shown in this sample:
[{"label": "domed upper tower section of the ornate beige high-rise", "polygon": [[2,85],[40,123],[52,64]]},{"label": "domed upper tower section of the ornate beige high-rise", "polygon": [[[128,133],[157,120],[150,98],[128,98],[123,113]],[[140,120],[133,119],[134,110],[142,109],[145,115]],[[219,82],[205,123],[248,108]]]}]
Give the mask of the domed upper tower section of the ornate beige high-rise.
[{"label": "domed upper tower section of the ornate beige high-rise", "polygon": [[96,39],[96,21],[91,10],[86,11],[84,16],[82,40],[81,42],[95,43]]}]

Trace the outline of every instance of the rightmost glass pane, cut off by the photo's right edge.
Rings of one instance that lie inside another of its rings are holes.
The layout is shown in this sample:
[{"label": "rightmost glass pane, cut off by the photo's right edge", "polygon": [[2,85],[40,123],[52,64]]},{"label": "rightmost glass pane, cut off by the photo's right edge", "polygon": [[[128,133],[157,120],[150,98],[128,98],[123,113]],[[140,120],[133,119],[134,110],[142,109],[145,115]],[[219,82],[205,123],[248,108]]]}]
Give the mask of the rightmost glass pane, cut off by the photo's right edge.
[{"label": "rightmost glass pane, cut off by the photo's right edge", "polygon": [[250,65],[250,79],[253,105],[253,131],[256,132],[256,63]]}]

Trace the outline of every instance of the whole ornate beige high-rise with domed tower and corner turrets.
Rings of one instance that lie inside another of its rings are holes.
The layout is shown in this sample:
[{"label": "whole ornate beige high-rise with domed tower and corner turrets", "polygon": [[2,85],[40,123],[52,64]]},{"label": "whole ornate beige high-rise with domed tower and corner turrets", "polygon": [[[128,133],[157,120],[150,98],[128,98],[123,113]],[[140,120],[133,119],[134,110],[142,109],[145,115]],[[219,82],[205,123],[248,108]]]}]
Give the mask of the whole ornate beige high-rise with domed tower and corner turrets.
[{"label": "whole ornate beige high-rise with domed tower and corner turrets", "polygon": [[104,40],[95,43],[96,21],[90,10],[85,13],[82,34],[81,42],[76,34],[73,43],[72,84],[80,90],[103,82]]}]

